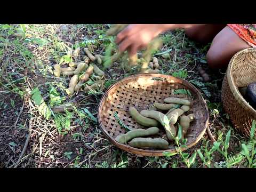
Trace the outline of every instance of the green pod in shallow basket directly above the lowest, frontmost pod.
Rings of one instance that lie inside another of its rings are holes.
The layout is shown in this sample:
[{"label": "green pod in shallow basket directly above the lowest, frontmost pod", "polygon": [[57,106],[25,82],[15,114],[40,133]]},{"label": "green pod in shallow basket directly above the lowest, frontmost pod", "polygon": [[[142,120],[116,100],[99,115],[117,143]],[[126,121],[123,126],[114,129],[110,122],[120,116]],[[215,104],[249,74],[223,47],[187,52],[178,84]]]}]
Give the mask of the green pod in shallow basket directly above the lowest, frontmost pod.
[{"label": "green pod in shallow basket directly above the lowest, frontmost pod", "polygon": [[132,140],[133,138],[154,135],[154,134],[157,134],[158,132],[159,132],[159,129],[157,127],[150,127],[146,130],[136,129],[136,130],[129,131],[125,134],[118,135],[116,137],[116,141],[124,144],[125,142],[128,142],[128,141]]}]

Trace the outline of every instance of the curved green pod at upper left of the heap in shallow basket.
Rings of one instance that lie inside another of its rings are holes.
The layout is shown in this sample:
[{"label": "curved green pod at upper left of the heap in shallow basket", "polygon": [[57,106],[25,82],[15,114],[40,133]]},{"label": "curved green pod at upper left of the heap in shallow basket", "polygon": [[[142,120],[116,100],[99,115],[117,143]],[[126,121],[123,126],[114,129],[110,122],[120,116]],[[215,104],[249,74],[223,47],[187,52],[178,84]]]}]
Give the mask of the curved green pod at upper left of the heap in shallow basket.
[{"label": "curved green pod at upper left of the heap in shallow basket", "polygon": [[146,127],[159,126],[159,123],[155,119],[142,116],[134,107],[129,107],[129,114],[140,125]]}]

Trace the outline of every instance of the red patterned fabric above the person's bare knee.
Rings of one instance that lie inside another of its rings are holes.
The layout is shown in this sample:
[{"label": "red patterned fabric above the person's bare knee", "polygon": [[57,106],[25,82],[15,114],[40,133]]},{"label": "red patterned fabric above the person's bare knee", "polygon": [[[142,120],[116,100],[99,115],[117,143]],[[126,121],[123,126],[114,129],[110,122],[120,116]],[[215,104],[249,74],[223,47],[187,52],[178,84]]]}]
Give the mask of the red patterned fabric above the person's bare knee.
[{"label": "red patterned fabric above the person's bare knee", "polygon": [[256,24],[228,24],[250,46],[256,47]]}]

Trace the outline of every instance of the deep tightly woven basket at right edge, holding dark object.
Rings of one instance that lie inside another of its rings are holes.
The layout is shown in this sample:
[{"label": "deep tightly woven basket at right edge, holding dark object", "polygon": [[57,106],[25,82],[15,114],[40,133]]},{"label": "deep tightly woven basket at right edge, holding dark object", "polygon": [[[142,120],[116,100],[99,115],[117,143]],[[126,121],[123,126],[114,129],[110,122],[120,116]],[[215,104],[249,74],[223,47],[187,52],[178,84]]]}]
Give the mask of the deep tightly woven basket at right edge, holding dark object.
[{"label": "deep tightly woven basket at right edge, holding dark object", "polygon": [[235,129],[246,137],[250,137],[256,110],[243,98],[238,87],[256,82],[256,49],[239,51],[230,60],[227,73],[223,79],[221,100],[226,113],[229,114]]}]

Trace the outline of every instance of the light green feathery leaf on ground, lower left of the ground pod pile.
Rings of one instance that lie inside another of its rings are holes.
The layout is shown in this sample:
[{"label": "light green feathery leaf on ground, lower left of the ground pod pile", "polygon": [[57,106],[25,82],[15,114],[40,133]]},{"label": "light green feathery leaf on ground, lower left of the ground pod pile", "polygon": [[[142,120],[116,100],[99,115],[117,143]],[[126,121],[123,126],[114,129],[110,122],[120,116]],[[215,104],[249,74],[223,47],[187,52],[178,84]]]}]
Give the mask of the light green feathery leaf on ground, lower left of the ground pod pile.
[{"label": "light green feathery leaf on ground, lower left of the ground pod pile", "polygon": [[41,92],[39,91],[38,88],[35,88],[33,91],[31,91],[31,94],[32,94],[31,99],[35,103],[39,113],[48,120],[51,117],[51,110],[44,102]]}]

